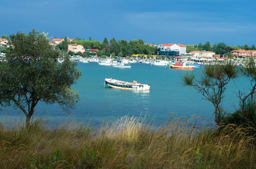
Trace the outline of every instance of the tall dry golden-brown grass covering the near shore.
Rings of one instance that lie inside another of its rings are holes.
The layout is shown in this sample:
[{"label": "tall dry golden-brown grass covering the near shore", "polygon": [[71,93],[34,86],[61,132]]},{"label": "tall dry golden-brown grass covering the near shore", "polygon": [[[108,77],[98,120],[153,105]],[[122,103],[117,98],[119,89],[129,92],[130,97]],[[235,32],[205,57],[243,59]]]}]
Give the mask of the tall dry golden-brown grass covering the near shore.
[{"label": "tall dry golden-brown grass covering the near shore", "polygon": [[95,129],[81,123],[50,128],[34,122],[29,131],[1,126],[0,168],[256,168],[255,139],[245,129],[215,132],[182,118],[155,129],[143,120],[125,116]]}]

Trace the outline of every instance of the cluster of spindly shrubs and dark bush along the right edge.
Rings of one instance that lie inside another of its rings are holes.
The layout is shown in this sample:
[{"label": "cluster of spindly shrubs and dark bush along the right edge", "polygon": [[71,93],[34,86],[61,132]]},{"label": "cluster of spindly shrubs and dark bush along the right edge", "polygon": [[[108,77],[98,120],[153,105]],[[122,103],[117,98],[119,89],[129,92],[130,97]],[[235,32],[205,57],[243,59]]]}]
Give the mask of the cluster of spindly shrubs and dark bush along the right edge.
[{"label": "cluster of spindly shrubs and dark bush along the right edge", "polygon": [[[222,65],[215,63],[204,66],[198,76],[186,73],[182,76],[185,86],[192,86],[204,96],[205,100],[212,102],[215,112],[215,122],[218,125],[233,124],[234,128],[241,126],[250,128],[250,135],[256,137],[256,64],[254,58],[242,63],[243,69],[239,69],[234,61],[225,60]],[[238,92],[239,107],[233,113],[227,113],[221,106],[227,83],[234,78],[244,76],[250,80],[249,92]]]}]

